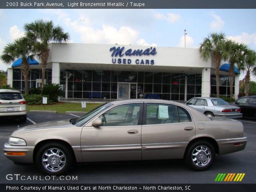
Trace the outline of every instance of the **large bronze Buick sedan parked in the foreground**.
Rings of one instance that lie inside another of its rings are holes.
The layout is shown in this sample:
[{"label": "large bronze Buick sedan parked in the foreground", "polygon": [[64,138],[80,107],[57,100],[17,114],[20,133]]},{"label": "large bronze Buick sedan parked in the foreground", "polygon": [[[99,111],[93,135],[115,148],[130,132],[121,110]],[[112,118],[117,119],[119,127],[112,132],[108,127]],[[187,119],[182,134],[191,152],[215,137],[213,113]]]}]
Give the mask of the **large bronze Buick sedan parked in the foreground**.
[{"label": "large bronze Buick sedan parked in the foreground", "polygon": [[64,174],[76,162],[179,158],[206,170],[215,154],[243,150],[246,142],[237,120],[208,118],[178,102],[137,99],[106,103],[77,119],[20,128],[4,154],[14,162],[35,162],[49,175]]}]

